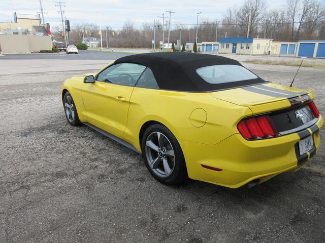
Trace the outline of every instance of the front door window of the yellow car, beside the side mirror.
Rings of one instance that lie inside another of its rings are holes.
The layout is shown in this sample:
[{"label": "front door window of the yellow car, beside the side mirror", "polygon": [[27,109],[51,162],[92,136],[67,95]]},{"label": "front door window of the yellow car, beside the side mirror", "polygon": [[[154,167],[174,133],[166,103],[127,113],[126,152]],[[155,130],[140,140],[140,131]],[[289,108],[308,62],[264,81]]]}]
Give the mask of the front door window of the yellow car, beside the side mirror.
[{"label": "front door window of the yellow car, beside the side mirror", "polygon": [[133,63],[115,64],[102,71],[97,80],[114,85],[134,87],[145,68],[145,66]]}]

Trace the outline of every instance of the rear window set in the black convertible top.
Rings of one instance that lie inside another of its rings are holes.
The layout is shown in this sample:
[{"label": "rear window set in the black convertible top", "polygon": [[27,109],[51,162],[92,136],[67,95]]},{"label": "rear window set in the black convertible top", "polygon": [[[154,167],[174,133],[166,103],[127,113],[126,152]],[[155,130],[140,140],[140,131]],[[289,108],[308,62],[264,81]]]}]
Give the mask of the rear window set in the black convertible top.
[{"label": "rear window set in the black convertible top", "polygon": [[254,73],[239,65],[214,65],[200,67],[196,71],[209,84],[222,84],[258,78]]}]

